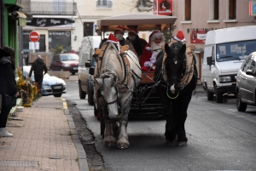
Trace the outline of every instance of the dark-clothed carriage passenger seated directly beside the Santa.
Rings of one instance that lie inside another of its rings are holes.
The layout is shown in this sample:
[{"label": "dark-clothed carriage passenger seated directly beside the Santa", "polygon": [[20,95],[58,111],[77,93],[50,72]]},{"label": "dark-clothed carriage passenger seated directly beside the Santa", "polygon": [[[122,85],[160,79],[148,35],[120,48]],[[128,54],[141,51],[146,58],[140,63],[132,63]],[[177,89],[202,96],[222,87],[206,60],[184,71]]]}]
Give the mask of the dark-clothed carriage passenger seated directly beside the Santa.
[{"label": "dark-clothed carriage passenger seated directly beside the Santa", "polygon": [[133,48],[135,48],[135,51],[138,56],[141,56],[143,54],[143,48],[148,44],[147,41],[143,38],[138,37],[136,29],[129,29],[128,30],[128,37],[126,37],[126,40],[131,41]]}]

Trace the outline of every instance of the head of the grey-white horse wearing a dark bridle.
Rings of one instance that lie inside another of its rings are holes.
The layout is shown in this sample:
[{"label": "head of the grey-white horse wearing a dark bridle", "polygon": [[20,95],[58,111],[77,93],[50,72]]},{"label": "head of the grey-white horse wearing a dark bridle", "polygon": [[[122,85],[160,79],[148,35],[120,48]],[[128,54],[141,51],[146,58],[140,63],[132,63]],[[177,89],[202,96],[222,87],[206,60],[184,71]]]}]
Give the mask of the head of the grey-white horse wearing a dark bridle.
[{"label": "head of the grey-white horse wearing a dark bridle", "polygon": [[111,117],[118,115],[118,77],[113,71],[102,73],[100,78],[95,78],[96,89],[101,90],[105,104],[108,105],[108,114]]}]

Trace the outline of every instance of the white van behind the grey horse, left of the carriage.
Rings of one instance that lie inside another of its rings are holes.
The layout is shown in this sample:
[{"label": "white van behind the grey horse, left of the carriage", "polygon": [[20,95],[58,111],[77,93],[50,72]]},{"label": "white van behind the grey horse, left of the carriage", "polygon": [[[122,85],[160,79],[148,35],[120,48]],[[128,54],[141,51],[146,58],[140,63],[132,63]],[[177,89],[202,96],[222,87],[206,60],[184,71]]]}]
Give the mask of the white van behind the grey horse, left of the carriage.
[{"label": "white van behind the grey horse, left of the carriage", "polygon": [[88,94],[88,103],[94,105],[93,94],[90,94],[90,88],[93,88],[93,79],[89,74],[90,68],[85,67],[86,62],[90,62],[90,66],[95,66],[95,58],[92,55],[101,43],[100,36],[84,37],[79,52],[79,97],[85,99]]}]

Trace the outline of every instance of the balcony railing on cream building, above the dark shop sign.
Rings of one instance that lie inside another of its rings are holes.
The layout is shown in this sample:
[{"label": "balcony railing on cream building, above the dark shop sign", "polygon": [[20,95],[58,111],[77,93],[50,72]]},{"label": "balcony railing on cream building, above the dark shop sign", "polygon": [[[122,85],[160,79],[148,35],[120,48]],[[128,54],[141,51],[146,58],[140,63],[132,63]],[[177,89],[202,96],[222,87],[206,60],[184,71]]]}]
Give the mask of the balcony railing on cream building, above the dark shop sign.
[{"label": "balcony railing on cream building, above the dark shop sign", "polygon": [[31,13],[42,15],[76,15],[77,3],[31,2]]}]

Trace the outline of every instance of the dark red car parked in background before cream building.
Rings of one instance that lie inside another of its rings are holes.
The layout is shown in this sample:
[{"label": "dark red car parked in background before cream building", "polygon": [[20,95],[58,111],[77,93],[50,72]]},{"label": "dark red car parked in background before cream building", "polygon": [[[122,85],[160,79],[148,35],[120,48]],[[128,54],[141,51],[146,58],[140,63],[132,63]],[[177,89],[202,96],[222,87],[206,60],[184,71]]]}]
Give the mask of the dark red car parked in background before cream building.
[{"label": "dark red car parked in background before cream building", "polygon": [[73,53],[55,54],[50,63],[51,71],[70,71],[75,75],[79,70],[79,55]]}]

